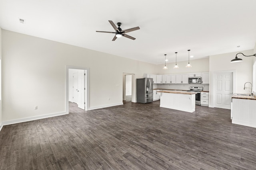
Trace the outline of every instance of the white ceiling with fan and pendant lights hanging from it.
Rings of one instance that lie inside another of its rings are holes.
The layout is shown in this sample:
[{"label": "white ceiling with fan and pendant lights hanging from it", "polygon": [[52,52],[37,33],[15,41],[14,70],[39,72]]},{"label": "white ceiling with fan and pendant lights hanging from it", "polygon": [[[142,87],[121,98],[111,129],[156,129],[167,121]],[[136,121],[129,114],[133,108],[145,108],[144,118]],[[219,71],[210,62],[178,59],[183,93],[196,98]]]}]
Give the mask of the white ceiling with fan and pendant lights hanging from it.
[{"label": "white ceiling with fan and pendant lights hanging from it", "polygon": [[[256,0],[0,0],[0,27],[153,64],[253,49]],[[25,24],[19,22],[25,20]],[[108,20],[122,29],[112,41]],[[239,48],[237,46],[240,46]],[[192,59],[192,60],[193,60]],[[191,60],[191,59],[190,59]]]}]

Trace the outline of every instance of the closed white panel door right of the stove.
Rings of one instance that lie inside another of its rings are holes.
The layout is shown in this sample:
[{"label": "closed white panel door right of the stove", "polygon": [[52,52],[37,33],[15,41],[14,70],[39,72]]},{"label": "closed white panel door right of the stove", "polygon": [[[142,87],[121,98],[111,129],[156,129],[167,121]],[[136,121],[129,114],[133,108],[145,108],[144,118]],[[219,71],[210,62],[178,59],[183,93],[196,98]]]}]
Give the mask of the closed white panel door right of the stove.
[{"label": "closed white panel door right of the stove", "polygon": [[231,109],[233,95],[233,73],[214,73],[214,107]]}]

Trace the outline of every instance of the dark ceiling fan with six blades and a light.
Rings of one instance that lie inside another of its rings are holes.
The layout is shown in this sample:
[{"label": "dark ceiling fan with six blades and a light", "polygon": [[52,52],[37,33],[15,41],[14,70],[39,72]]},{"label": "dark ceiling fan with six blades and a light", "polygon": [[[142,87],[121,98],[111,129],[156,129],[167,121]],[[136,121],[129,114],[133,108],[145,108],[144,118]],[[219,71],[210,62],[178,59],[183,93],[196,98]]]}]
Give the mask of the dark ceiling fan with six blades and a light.
[{"label": "dark ceiling fan with six blades and a light", "polygon": [[133,40],[136,39],[136,38],[134,38],[134,37],[131,37],[130,35],[127,35],[126,33],[131,32],[131,31],[138,30],[138,29],[140,29],[140,27],[134,27],[134,28],[122,30],[122,29],[120,28],[120,26],[122,25],[122,23],[118,22],[118,23],[117,23],[117,26],[118,26],[118,27],[116,27],[116,25],[114,24],[113,21],[110,21],[110,20],[108,20],[108,21],[109,21],[109,23],[112,25],[112,27],[114,28],[114,30],[115,30],[116,32],[108,32],[108,31],[96,31],[96,32],[100,32],[100,33],[115,33],[116,35],[114,36],[114,38],[112,39],[112,41],[115,41],[116,38],[119,38],[119,37],[122,37],[122,36],[123,36],[123,37],[126,37],[126,38],[133,39]]}]

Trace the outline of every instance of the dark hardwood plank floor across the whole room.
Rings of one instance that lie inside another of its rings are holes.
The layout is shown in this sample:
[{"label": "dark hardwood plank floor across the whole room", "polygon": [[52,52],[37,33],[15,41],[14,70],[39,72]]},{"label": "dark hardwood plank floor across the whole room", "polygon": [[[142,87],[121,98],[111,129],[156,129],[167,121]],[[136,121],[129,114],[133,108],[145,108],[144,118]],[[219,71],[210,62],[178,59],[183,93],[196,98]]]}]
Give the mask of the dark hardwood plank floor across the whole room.
[{"label": "dark hardwood plank floor across the whole room", "polygon": [[4,126],[0,169],[255,170],[256,129],[232,124],[227,109],[70,103],[68,115]]}]

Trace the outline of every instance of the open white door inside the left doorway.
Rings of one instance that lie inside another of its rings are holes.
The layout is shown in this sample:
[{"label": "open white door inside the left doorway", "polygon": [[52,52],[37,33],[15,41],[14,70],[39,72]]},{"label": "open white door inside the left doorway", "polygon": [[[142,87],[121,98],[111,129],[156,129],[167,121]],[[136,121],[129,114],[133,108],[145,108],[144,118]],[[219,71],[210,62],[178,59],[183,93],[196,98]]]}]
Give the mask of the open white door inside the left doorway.
[{"label": "open white door inside the left doorway", "polygon": [[85,109],[85,86],[84,86],[84,70],[78,70],[78,107]]}]

